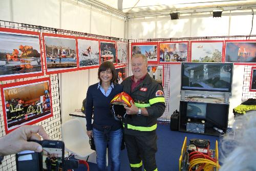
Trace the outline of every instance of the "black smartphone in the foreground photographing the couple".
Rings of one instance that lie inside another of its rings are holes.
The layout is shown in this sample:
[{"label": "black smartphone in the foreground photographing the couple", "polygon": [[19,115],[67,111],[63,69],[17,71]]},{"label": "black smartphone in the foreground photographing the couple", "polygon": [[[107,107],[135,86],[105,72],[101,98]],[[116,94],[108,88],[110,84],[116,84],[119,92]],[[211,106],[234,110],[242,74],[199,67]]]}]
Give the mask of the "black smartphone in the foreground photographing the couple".
[{"label": "black smartphone in the foreground photographing the couple", "polygon": [[57,140],[43,140],[42,143],[42,170],[64,170],[64,142]]}]

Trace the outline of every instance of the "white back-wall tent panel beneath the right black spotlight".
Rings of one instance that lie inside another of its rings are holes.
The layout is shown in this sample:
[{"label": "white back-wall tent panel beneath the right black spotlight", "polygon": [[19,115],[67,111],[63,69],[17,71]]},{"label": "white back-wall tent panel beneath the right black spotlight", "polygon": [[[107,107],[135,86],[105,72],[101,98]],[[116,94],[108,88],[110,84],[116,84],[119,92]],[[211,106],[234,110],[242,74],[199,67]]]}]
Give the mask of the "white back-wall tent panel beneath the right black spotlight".
[{"label": "white back-wall tent panel beneath the right black spotlight", "polygon": [[192,17],[191,37],[228,35],[229,16]]}]

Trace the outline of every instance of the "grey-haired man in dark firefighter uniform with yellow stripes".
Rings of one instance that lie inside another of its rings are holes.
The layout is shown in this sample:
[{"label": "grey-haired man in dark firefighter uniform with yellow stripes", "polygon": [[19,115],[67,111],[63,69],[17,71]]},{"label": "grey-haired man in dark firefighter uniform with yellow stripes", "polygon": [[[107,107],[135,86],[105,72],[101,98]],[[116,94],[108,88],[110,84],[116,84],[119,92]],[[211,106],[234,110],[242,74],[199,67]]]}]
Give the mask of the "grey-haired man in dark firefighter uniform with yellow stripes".
[{"label": "grey-haired man in dark firefighter uniform with yellow stripes", "polygon": [[133,99],[131,108],[126,109],[123,118],[124,139],[132,170],[157,170],[157,118],[165,110],[164,93],[161,84],[147,73],[147,58],[136,54],[131,61],[133,76],[126,78],[123,91]]}]

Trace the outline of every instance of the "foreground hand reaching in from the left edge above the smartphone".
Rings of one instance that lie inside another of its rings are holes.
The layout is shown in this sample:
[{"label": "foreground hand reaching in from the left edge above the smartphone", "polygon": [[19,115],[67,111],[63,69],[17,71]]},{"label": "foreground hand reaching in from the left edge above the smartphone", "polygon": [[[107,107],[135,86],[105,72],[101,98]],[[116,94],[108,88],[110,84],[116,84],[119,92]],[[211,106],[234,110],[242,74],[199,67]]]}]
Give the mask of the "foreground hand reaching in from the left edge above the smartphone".
[{"label": "foreground hand reaching in from the left edge above the smartphone", "polygon": [[41,140],[49,137],[41,125],[23,125],[6,136],[0,138],[0,155],[6,156],[21,151],[31,150],[41,152],[42,146],[28,140]]}]

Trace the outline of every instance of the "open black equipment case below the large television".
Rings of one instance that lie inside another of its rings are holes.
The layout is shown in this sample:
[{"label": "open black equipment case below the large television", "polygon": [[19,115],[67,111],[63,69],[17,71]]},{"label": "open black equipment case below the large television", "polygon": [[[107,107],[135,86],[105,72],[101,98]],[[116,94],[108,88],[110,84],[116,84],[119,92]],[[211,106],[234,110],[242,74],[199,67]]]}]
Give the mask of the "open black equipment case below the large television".
[{"label": "open black equipment case below the large television", "polygon": [[[205,116],[187,116],[187,104],[193,103],[205,104]],[[226,133],[227,130],[228,110],[229,103],[193,102],[180,100],[179,131],[221,136]],[[188,119],[190,119],[190,121],[188,121]],[[214,127],[222,130],[223,133],[218,132],[214,129]],[[190,128],[192,128],[192,130]]]}]

